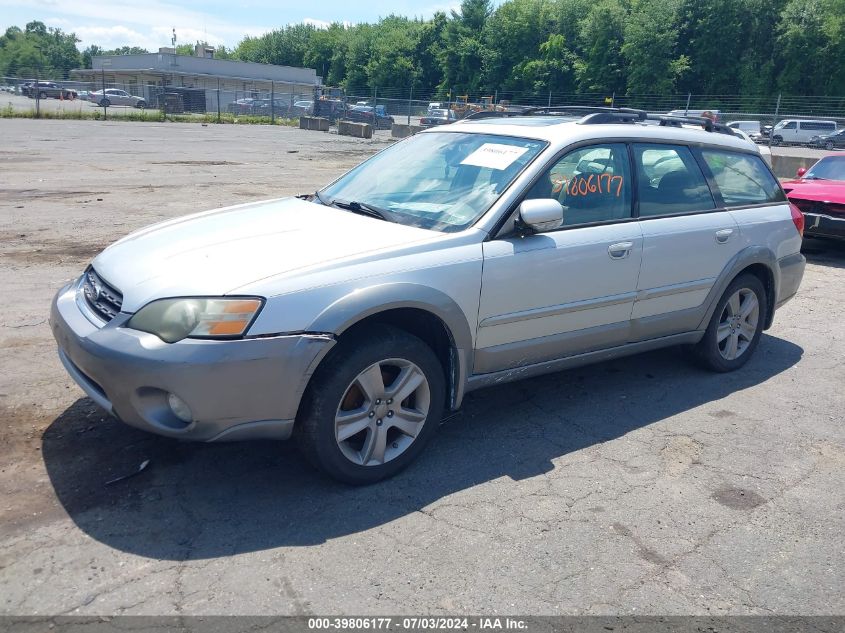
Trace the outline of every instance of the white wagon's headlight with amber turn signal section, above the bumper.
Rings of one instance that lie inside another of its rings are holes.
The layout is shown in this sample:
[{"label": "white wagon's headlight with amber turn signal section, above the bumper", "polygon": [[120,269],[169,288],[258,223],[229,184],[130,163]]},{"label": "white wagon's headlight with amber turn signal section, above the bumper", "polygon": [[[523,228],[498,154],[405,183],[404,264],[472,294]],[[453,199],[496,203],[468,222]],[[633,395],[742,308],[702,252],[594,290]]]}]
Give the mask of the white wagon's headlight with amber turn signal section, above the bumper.
[{"label": "white wagon's headlight with amber turn signal section, above the bumper", "polygon": [[262,303],[254,297],[159,299],[138,310],[126,325],[167,343],[188,337],[236,338],[246,333]]}]

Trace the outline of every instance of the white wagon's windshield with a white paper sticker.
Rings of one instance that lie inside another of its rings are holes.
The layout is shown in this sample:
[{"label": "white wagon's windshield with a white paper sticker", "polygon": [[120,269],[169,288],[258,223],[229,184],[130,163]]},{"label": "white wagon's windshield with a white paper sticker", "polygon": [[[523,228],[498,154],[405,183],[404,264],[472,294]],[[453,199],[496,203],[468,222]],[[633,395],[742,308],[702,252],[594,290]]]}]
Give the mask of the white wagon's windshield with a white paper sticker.
[{"label": "white wagon's windshield with a white paper sticker", "polygon": [[492,134],[417,134],[345,174],[320,198],[376,207],[400,224],[459,231],[481,217],[545,146]]}]

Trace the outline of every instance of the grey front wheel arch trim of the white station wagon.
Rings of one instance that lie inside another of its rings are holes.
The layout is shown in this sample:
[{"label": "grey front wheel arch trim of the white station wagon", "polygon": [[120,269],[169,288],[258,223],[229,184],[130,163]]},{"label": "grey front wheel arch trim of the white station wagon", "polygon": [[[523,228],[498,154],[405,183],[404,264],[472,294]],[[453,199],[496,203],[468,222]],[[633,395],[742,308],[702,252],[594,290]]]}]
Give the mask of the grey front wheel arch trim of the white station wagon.
[{"label": "grey front wheel arch trim of the white station wagon", "polygon": [[[335,301],[309,327],[338,339],[368,325],[400,328],[428,344],[446,374],[448,405],[457,409],[471,374],[473,339],[463,310],[444,292],[413,283],[383,284]],[[323,359],[321,362],[323,362]]]}]

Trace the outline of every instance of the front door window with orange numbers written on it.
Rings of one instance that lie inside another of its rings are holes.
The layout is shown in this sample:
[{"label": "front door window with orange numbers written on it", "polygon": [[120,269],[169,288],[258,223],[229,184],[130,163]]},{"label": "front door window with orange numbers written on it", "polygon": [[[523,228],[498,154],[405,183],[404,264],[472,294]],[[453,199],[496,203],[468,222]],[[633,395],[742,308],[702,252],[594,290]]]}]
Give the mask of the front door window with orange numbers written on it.
[{"label": "front door window with orange numbers written on it", "polygon": [[525,197],[558,200],[564,226],[622,220],[631,217],[629,172],[624,144],[581,147],[555,161]]}]

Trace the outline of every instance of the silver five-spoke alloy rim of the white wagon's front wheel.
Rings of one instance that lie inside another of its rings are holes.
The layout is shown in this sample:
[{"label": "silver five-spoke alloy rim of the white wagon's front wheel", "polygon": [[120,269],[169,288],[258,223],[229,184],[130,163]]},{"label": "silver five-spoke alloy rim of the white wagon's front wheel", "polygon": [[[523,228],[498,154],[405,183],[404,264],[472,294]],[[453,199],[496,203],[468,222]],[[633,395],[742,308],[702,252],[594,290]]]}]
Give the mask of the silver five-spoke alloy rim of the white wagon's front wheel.
[{"label": "silver five-spoke alloy rim of the white wagon's front wheel", "polygon": [[417,365],[400,358],[373,363],[341,398],[335,440],[354,464],[385,464],[414,443],[430,407],[431,387]]}]

